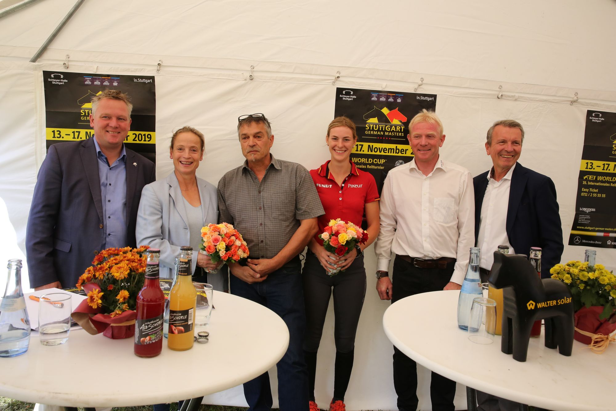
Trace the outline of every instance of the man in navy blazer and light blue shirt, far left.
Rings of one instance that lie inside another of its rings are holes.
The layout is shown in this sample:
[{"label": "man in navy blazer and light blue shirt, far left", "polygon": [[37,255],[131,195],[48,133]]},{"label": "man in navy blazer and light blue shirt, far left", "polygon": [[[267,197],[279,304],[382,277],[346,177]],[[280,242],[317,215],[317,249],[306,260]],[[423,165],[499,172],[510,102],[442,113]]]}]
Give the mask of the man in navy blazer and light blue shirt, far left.
[{"label": "man in navy blazer and light blue shirt, far left", "polygon": [[131,110],[126,94],[105,90],[92,98],[94,137],[49,147],[26,228],[34,289],[73,287],[100,250],[136,246],[141,189],[156,170],[124,147]]}]

